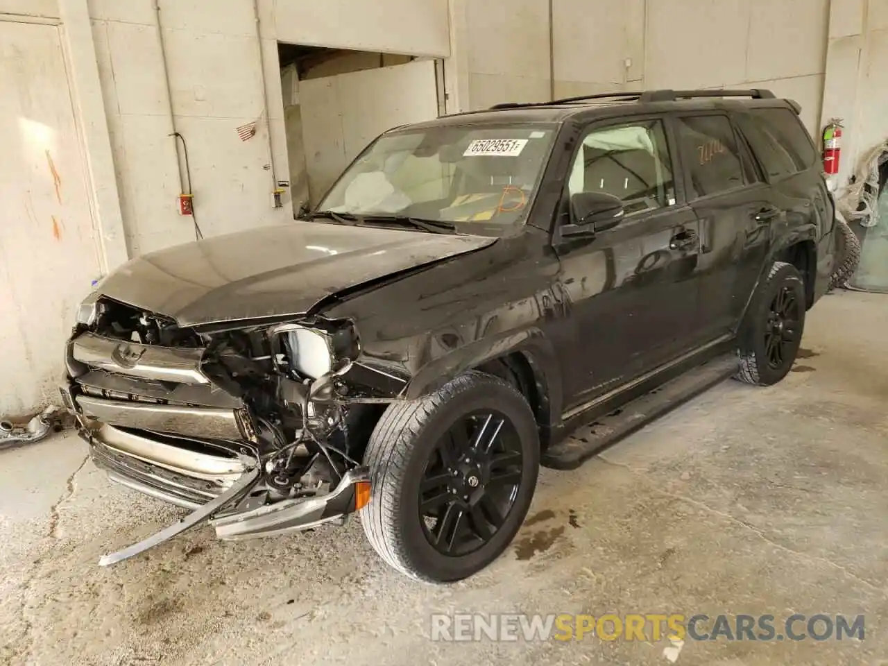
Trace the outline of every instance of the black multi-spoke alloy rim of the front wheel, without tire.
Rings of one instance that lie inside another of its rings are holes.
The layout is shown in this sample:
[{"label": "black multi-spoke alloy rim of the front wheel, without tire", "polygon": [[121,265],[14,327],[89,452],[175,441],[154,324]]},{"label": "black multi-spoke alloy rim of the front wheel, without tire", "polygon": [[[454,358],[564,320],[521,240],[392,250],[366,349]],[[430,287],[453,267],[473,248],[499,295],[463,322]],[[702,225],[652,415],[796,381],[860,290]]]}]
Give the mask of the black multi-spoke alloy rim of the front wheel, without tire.
[{"label": "black multi-spoke alloy rim of the front wheel, without tire", "polygon": [[425,538],[441,554],[466,555],[496,535],[521,483],[521,444],[499,412],[459,418],[432,448],[419,486]]}]

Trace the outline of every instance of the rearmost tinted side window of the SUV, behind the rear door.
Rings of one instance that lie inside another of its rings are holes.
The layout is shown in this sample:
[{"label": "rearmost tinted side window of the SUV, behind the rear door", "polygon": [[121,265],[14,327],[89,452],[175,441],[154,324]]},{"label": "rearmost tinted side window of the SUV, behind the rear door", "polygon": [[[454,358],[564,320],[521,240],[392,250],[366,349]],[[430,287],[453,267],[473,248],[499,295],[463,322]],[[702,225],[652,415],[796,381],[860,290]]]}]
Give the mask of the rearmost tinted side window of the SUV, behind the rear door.
[{"label": "rearmost tinted side window of the SUV, behind the rear door", "polygon": [[770,179],[810,169],[817,152],[798,116],[788,108],[760,108],[740,115],[741,130]]}]

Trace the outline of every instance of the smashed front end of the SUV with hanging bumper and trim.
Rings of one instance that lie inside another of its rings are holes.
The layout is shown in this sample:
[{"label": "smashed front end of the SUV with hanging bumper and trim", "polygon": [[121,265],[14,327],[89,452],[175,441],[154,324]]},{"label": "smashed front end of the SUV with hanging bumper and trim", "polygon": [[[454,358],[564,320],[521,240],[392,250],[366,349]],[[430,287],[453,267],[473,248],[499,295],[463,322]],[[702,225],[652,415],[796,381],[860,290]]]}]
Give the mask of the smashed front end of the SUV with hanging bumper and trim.
[{"label": "smashed front end of the SUV with hanging bumper and trim", "polygon": [[219,538],[244,539],[342,523],[369,501],[358,461],[406,380],[359,361],[351,321],[180,328],[107,298],[79,319],[62,393],[92,460],[194,511],[101,564],[204,519]]}]

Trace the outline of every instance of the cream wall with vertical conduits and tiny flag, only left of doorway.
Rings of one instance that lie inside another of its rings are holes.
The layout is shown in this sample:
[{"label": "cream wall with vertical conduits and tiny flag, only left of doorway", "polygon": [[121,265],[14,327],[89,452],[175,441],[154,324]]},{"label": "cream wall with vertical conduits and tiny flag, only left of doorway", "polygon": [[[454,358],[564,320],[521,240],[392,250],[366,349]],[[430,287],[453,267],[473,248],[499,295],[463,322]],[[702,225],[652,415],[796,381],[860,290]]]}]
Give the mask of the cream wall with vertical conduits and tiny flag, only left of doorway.
[{"label": "cream wall with vertical conduits and tiny flag, only left of doorway", "polygon": [[[271,129],[281,139],[272,155],[251,0],[231,0],[224,12],[197,0],[161,0],[160,7],[155,12],[151,0],[90,0],[131,255],[194,239],[191,218],[179,216],[176,207],[180,168],[187,178],[184,153],[177,163],[176,141],[170,137],[174,126],[186,140],[194,210],[203,234],[267,224],[283,219],[289,209],[272,205],[271,166],[279,179],[289,180],[283,113],[280,104],[271,106]],[[266,65],[274,83],[279,75],[276,44],[271,46]],[[275,86],[269,91],[274,95]],[[276,91],[280,99],[280,84]],[[260,117],[257,135],[242,141],[236,128]]]}]

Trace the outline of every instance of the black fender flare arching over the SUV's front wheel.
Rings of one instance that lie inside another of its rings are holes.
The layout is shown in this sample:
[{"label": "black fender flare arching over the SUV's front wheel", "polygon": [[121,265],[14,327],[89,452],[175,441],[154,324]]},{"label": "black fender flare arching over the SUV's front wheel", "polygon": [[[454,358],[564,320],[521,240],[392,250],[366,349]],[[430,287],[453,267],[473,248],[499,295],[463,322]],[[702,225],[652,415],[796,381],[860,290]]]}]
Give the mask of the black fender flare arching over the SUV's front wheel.
[{"label": "black fender flare arching over the SUV's front wheel", "polygon": [[466,370],[513,353],[520,353],[533,371],[542,403],[540,407],[544,422],[541,425],[557,424],[563,402],[558,356],[551,341],[535,327],[482,338],[433,359],[410,379],[402,397],[416,400],[438,390]]}]

